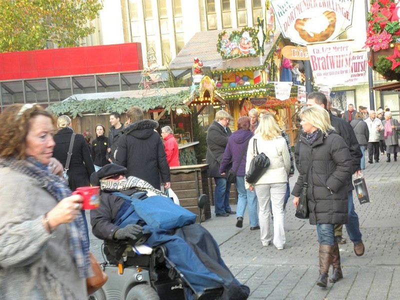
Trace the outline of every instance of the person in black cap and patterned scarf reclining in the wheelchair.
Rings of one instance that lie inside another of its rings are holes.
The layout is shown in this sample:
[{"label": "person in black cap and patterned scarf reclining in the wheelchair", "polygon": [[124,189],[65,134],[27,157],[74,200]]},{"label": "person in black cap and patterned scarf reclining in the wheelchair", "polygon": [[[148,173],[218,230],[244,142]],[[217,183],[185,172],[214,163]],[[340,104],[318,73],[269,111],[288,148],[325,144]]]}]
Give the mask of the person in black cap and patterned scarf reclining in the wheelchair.
[{"label": "person in black cap and patterned scarf reclining in the wheelchair", "polygon": [[[145,241],[148,246],[156,248],[161,245],[165,249],[167,267],[176,268],[193,294],[222,286],[220,299],[247,299],[249,288],[234,278],[220,257],[216,241],[206,229],[194,224],[194,220],[188,225],[161,229],[146,224],[135,213],[134,202],[129,199],[137,201],[166,195],[145,180],[134,176],[126,178],[125,172],[123,166],[107,164],[91,175],[91,184],[100,185],[101,189],[100,205],[90,211],[93,234],[108,244],[130,240],[137,245],[137,241],[144,241],[144,233],[145,237],[148,236]],[[151,209],[160,208],[154,205]],[[190,298],[188,293],[189,289],[185,288],[186,298]]]}]

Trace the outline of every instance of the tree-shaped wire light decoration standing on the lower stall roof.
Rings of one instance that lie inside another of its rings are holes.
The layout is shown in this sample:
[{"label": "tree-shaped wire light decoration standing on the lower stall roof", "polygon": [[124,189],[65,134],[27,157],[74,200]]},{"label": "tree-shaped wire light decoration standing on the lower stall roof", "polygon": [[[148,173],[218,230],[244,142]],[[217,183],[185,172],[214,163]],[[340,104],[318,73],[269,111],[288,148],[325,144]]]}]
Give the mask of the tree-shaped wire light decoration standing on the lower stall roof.
[{"label": "tree-shaped wire light decoration standing on the lower stall roof", "polygon": [[168,93],[165,89],[165,83],[162,80],[161,72],[159,72],[153,48],[150,48],[147,52],[147,61],[144,64],[140,76],[141,80],[138,87],[143,97],[162,96]]}]

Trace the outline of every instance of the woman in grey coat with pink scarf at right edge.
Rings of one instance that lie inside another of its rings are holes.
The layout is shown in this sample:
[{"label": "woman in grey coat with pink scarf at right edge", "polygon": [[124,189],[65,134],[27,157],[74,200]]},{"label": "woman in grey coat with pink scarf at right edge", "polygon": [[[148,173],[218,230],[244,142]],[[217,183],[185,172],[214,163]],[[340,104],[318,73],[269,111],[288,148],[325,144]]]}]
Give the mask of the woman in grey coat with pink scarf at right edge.
[{"label": "woman in grey coat with pink scarf at right edge", "polygon": [[386,144],[386,162],[390,162],[390,153],[393,153],[393,160],[397,161],[397,152],[400,151],[397,136],[397,132],[400,129],[399,123],[396,119],[391,117],[391,111],[385,111],[382,124],[384,128],[383,138]]}]

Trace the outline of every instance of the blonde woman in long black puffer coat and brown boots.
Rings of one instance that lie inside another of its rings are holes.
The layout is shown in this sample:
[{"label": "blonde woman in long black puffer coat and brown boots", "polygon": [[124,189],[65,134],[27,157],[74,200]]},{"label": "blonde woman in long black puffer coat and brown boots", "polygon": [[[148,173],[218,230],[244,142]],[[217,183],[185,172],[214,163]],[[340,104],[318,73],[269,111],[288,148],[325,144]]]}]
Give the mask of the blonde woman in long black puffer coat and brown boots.
[{"label": "blonde woman in long black puffer coat and brown boots", "polygon": [[307,199],[309,223],[316,224],[319,241],[319,277],[316,284],[326,287],[330,264],[334,280],[343,277],[333,227],[334,224],[347,223],[346,187],[351,180],[351,156],[344,139],[335,133],[330,124],[325,109],[319,105],[312,106],[304,109],[300,116],[303,132],[294,152],[299,175],[291,194],[297,207],[311,159]]}]

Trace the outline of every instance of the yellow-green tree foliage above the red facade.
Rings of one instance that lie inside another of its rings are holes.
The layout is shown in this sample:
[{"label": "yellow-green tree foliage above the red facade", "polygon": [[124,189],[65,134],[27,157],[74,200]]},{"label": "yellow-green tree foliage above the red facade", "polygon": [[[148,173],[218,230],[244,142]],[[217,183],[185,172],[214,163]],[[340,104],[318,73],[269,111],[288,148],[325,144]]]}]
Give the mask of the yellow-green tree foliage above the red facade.
[{"label": "yellow-green tree foliage above the red facade", "polygon": [[1,0],[0,52],[44,49],[48,41],[78,46],[102,7],[102,0]]}]

